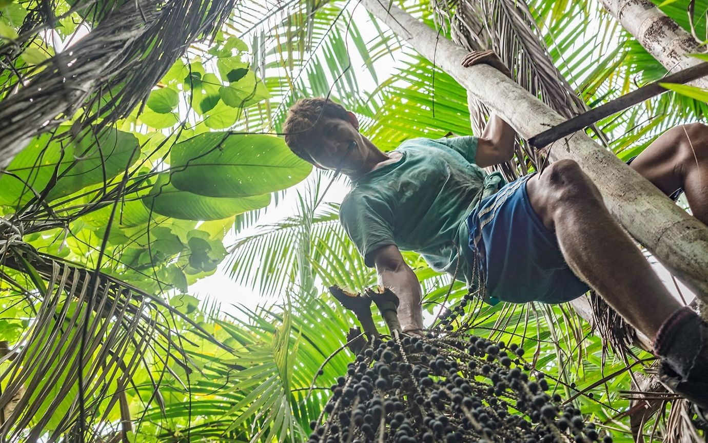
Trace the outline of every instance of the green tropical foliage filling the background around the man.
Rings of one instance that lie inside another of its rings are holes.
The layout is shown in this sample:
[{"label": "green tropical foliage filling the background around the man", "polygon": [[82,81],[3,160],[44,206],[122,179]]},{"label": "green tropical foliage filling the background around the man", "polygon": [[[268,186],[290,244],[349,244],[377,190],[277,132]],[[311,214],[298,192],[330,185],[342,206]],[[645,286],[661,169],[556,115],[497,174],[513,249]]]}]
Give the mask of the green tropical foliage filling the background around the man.
[{"label": "green tropical foliage filling the background around the man", "polygon": [[[384,149],[484,123],[483,106],[471,118],[464,89],[355,2],[175,5],[0,0],[0,440],[306,438],[353,358],[353,316],[324,288],[358,291],[376,277],[337,204],[316,205],[330,176],[282,193],[311,172],[274,135],[287,108],[329,95]],[[569,115],[666,74],[595,2],[518,5],[401,6],[440,38],[494,48],[557,108],[577,96]],[[456,15],[464,8],[476,15]],[[707,2],[661,8],[706,35]],[[460,22],[476,40],[453,32]],[[626,159],[705,106],[700,94],[665,94],[590,133]],[[520,149],[504,172],[535,166]],[[258,226],[283,200],[297,214]],[[466,293],[418,254],[404,257],[427,318]],[[227,315],[191,296],[219,264],[271,302]],[[464,321],[520,343],[615,441],[687,435],[678,402],[668,420],[636,422],[637,394],[622,391],[648,354],[608,352],[568,306],[480,303]]]}]

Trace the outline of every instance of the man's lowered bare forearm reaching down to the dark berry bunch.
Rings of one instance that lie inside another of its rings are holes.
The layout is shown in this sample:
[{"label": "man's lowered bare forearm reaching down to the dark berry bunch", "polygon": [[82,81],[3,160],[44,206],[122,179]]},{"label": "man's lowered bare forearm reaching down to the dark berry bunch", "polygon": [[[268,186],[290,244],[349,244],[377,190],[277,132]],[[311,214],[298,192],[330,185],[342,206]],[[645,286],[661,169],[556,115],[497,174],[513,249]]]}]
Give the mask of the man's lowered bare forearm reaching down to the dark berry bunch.
[{"label": "man's lowered bare forearm reaching down to the dark berry bunch", "polygon": [[391,288],[399,297],[398,315],[404,332],[423,327],[421,284],[403,259],[396,245],[379,247],[371,253],[379,284]]}]

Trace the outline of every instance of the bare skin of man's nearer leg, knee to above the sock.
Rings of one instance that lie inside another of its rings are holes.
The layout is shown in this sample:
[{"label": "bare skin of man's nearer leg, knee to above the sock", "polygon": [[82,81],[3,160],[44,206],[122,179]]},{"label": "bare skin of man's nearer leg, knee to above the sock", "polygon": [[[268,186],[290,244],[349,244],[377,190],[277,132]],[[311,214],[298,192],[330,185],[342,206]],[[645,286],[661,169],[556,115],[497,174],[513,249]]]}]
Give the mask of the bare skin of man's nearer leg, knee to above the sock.
[{"label": "bare skin of man's nearer leg, knee to above the sock", "polygon": [[573,272],[647,337],[681,307],[603,203],[600,191],[571,160],[560,160],[527,181],[527,194],[546,228],[554,230]]}]

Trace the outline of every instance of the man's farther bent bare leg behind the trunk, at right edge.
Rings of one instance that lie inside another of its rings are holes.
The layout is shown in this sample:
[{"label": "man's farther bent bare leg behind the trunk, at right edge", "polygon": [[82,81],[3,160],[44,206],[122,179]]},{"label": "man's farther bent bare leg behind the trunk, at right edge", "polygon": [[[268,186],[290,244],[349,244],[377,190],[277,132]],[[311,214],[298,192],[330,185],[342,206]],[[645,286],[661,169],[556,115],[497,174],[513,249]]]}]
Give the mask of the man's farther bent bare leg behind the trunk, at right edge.
[{"label": "man's farther bent bare leg behind the trunk, at right edge", "polygon": [[695,218],[708,225],[708,126],[691,123],[667,130],[629,167],[666,195],[683,188]]}]

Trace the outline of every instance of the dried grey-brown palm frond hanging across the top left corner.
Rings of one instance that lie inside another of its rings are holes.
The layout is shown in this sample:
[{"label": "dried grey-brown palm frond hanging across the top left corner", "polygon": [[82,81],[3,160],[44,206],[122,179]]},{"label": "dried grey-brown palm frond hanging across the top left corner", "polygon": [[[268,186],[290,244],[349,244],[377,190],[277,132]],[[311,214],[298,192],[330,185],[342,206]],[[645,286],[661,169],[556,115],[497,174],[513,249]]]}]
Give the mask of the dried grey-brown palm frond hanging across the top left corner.
[{"label": "dried grey-brown palm frond hanging across the top left corner", "polygon": [[[0,102],[0,166],[6,166],[28,140],[74,118],[80,108],[86,113],[74,123],[74,133],[93,122],[103,128],[126,116],[190,43],[219,28],[234,0],[116,4],[115,9],[102,11],[89,35],[44,62],[41,72],[6,87]],[[1,46],[0,55],[8,52],[8,46],[33,39],[35,29]]]}]

